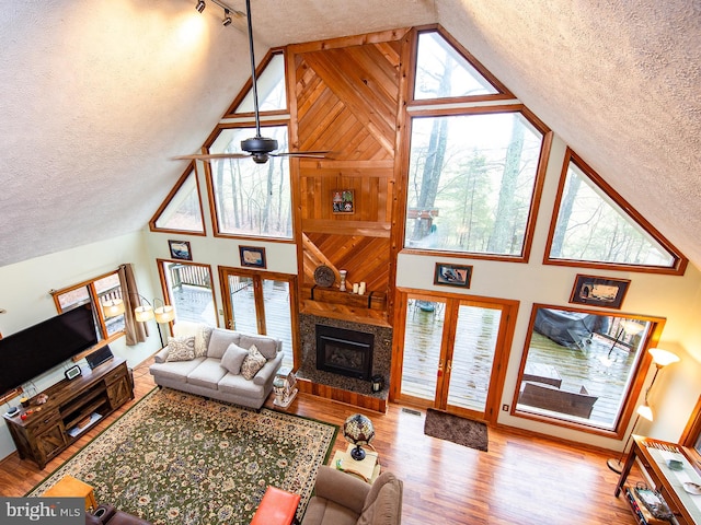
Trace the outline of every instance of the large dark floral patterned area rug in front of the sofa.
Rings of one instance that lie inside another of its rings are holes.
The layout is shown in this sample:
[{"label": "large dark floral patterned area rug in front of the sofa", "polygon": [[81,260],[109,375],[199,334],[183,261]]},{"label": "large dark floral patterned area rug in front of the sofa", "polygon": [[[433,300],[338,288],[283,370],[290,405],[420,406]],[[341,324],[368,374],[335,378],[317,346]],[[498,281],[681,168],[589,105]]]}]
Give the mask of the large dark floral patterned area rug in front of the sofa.
[{"label": "large dark floral patterned area rug in front of the sofa", "polygon": [[301,518],[337,427],[156,389],[27,495],[71,475],[153,524],[248,524],[272,485]]}]

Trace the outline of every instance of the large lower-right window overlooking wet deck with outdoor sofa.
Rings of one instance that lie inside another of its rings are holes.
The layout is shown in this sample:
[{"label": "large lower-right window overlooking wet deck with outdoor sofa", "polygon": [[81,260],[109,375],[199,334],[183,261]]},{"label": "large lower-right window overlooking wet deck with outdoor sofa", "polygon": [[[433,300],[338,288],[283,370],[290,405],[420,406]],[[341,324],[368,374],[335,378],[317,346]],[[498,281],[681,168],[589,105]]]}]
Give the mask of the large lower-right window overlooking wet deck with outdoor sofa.
[{"label": "large lower-right window overlooking wet deck with outdoor sofa", "polygon": [[515,413],[618,433],[663,325],[653,317],[536,305]]}]

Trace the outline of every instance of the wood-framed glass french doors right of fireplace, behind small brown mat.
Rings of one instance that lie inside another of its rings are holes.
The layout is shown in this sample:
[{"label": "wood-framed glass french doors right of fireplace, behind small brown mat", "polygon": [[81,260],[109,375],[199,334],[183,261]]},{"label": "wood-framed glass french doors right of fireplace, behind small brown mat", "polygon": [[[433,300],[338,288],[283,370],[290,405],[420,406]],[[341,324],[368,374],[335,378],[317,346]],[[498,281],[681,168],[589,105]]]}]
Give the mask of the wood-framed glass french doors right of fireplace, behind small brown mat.
[{"label": "wood-framed glass french doors right of fireplace, behind small brown mat", "polygon": [[496,421],[516,304],[402,293],[394,399]]}]

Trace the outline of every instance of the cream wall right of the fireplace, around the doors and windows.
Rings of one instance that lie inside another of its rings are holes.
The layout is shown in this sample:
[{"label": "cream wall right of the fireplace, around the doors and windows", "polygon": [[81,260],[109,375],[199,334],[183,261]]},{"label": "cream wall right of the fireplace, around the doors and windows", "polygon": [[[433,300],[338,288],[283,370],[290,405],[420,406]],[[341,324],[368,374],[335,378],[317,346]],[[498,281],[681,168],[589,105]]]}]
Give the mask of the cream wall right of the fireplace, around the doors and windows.
[{"label": "cream wall right of the fireplace, around the doors and windows", "polygon": [[[651,405],[655,408],[656,423],[647,427],[640,424],[636,433],[647,431],[650,435],[677,441],[701,394],[701,324],[698,323],[698,315],[696,315],[701,305],[699,300],[701,272],[692,266],[689,266],[685,276],[678,277],[542,265],[565,148],[565,143],[555,137],[536,223],[530,261],[528,264],[479,259],[467,261],[473,266],[473,271],[470,290],[464,291],[466,295],[520,301],[501,404],[510,405],[517,388],[518,369],[527,340],[533,303],[567,305],[577,273],[630,279],[631,284],[623,307],[620,312],[617,311],[617,314],[644,314],[666,318],[659,347],[676,351],[682,358],[680,364],[663,370],[655,383],[651,394]],[[466,259],[451,260],[444,256],[400,254],[397,285],[445,291],[445,287],[433,284],[437,261],[466,264]],[[456,290],[450,289],[450,292],[453,293]],[[654,366],[650,372],[648,382],[652,380],[653,371]],[[498,422],[607,448],[616,450],[623,445],[616,440],[516,418],[503,411],[499,412]]]}]

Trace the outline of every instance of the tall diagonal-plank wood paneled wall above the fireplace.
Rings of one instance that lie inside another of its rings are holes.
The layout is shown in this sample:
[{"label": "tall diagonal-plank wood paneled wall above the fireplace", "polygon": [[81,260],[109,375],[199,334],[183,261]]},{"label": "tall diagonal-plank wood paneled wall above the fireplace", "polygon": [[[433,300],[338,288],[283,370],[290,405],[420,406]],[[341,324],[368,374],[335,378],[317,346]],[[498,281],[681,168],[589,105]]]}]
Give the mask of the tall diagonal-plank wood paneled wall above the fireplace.
[{"label": "tall diagonal-plank wood paneled wall above the fireplace", "polygon": [[[292,141],[302,151],[299,223],[302,294],[320,264],[391,295],[400,58],[407,30],[289,46]],[[333,213],[334,190],[354,191],[354,213]],[[335,287],[337,288],[336,281]],[[308,298],[302,298],[302,300]]]}]

